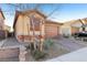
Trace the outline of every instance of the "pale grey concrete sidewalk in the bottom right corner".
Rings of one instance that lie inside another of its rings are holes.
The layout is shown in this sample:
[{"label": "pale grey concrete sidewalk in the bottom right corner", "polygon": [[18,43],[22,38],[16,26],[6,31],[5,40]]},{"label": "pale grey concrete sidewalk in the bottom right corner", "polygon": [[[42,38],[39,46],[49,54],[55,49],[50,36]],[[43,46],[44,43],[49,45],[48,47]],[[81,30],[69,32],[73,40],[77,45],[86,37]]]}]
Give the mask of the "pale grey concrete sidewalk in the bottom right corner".
[{"label": "pale grey concrete sidewalk in the bottom right corner", "polygon": [[46,62],[87,62],[87,47],[58,56],[56,58],[47,59]]}]

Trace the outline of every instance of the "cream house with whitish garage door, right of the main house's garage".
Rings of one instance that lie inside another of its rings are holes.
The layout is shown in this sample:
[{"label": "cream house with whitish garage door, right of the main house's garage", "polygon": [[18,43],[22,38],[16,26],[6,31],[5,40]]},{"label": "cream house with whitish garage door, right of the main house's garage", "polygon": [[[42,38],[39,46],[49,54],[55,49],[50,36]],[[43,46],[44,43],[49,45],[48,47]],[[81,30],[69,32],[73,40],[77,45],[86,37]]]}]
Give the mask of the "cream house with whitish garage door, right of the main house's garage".
[{"label": "cream house with whitish garage door, right of the main house's garage", "polygon": [[72,35],[74,33],[80,32],[81,30],[81,22],[80,20],[73,20],[69,22],[65,22],[61,26],[61,34],[62,35]]}]

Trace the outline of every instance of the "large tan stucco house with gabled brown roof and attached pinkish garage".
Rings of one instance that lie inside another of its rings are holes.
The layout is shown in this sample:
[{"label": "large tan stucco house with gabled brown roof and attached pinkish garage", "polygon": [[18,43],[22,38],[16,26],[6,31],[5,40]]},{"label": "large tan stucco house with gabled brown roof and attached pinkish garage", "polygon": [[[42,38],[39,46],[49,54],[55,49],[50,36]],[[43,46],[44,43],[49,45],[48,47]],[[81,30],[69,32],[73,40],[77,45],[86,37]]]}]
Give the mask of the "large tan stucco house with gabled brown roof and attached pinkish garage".
[{"label": "large tan stucco house with gabled brown roof and attached pinkish garage", "polygon": [[[40,34],[44,37],[53,37],[58,35],[58,23],[45,21],[45,15],[37,10],[29,10],[23,12],[15,12],[13,29],[14,35],[19,41],[29,41],[33,34],[39,37]],[[34,26],[32,26],[32,21]],[[41,31],[42,30],[42,31]]]}]

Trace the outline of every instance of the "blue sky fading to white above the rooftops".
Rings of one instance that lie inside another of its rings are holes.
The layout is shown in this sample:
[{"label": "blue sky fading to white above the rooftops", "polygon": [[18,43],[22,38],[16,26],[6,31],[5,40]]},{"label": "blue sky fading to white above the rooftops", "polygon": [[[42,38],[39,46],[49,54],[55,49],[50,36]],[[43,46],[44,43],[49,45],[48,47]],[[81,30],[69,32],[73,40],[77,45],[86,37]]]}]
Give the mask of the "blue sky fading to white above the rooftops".
[{"label": "blue sky fading to white above the rooftops", "polygon": [[[1,10],[6,17],[6,24],[12,26],[14,21],[15,10],[31,10],[36,8],[37,4],[0,4]],[[47,15],[47,19],[56,22],[67,22],[70,20],[77,20],[87,18],[87,4],[86,3],[44,3],[37,7],[42,13]],[[54,12],[53,12],[54,11]],[[53,12],[53,13],[52,13]],[[52,14],[51,14],[52,13]]]}]

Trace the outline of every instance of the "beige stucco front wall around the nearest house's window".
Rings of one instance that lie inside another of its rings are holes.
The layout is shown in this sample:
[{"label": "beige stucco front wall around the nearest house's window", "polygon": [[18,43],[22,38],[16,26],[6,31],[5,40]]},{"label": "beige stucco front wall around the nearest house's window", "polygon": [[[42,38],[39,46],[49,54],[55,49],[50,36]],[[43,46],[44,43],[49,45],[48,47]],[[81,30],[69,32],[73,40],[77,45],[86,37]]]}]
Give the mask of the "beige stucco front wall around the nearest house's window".
[{"label": "beige stucco front wall around the nearest house's window", "polygon": [[[35,17],[40,18],[39,14],[35,14]],[[15,23],[15,35],[29,35],[29,34],[30,35],[33,34],[33,32],[30,31],[30,18],[21,14],[19,15],[18,21]],[[40,31],[35,31],[35,34],[40,35]]]}]

